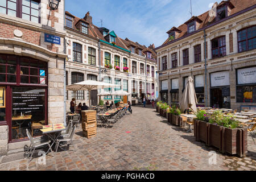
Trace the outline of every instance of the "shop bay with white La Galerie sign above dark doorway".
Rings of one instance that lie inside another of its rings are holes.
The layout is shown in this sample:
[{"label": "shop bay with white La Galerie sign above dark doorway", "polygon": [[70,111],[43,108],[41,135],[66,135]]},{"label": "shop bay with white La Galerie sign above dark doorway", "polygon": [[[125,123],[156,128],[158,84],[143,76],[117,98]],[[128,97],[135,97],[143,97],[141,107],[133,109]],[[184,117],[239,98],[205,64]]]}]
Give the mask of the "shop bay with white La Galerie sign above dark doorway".
[{"label": "shop bay with white La Galerie sign above dark doorway", "polygon": [[230,108],[229,71],[210,73],[210,105]]}]

